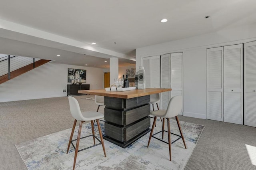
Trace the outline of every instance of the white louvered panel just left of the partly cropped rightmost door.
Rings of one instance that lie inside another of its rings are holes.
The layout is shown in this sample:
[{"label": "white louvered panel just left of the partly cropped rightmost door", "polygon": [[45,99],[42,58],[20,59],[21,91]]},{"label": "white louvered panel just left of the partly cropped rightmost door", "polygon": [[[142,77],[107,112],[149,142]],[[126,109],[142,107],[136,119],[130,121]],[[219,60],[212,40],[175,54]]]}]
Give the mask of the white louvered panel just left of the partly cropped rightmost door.
[{"label": "white louvered panel just left of the partly cropped rightmost door", "polygon": [[224,122],[243,125],[243,45],[223,48]]}]

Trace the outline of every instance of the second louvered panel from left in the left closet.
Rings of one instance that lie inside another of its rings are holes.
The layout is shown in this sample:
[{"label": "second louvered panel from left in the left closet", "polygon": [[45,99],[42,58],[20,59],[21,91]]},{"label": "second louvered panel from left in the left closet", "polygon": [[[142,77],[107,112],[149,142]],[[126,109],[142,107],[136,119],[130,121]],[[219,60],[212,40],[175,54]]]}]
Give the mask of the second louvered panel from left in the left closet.
[{"label": "second louvered panel from left in the left closet", "polygon": [[150,88],[160,88],[160,55],[150,57]]}]

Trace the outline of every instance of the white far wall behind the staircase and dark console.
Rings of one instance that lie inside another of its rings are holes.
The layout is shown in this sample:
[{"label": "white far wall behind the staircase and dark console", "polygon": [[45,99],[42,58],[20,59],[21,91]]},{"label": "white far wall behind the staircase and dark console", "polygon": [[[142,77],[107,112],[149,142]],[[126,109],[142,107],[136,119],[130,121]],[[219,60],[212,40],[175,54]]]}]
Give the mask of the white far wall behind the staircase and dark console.
[{"label": "white far wall behind the staircase and dark console", "polygon": [[0,102],[66,96],[68,68],[86,69],[84,84],[104,88],[103,69],[50,62],[0,84]]}]

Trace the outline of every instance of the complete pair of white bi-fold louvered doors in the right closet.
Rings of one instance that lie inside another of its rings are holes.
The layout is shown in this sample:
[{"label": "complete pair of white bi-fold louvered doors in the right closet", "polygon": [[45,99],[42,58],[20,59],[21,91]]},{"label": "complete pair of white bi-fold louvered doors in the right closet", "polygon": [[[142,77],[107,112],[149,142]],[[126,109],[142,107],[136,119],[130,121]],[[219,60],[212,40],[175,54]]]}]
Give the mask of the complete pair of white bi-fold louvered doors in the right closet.
[{"label": "complete pair of white bi-fold louvered doors in the right closet", "polygon": [[243,124],[243,46],[206,49],[207,119]]}]

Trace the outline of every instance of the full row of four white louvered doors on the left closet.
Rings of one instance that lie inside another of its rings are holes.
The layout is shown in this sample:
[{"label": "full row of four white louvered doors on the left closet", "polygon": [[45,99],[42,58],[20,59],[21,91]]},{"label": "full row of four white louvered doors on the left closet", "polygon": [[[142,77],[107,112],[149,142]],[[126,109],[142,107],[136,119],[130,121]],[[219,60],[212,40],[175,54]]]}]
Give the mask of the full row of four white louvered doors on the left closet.
[{"label": "full row of four white louvered doors on the left closet", "polygon": [[171,97],[183,95],[183,53],[145,57],[142,65],[146,88],[172,88],[172,91],[161,93],[161,109],[167,109]]}]

